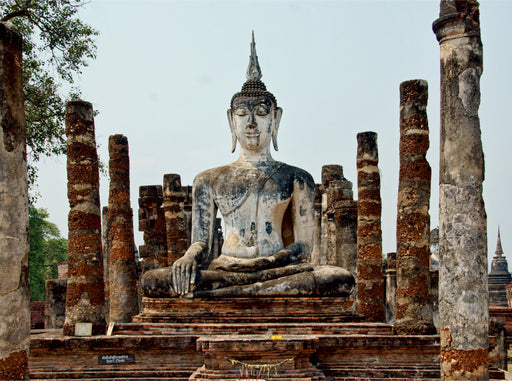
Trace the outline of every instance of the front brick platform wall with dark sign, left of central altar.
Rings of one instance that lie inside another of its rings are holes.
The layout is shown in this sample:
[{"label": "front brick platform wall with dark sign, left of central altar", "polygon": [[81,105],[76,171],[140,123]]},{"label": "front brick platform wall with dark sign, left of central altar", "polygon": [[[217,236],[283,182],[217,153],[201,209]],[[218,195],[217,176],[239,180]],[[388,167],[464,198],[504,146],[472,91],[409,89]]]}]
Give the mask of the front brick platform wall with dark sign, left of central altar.
[{"label": "front brick platform wall with dark sign, left of central altar", "polygon": [[186,381],[204,364],[197,336],[63,336],[33,331],[30,380]]}]

